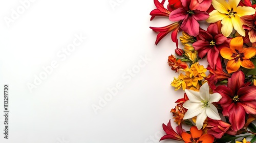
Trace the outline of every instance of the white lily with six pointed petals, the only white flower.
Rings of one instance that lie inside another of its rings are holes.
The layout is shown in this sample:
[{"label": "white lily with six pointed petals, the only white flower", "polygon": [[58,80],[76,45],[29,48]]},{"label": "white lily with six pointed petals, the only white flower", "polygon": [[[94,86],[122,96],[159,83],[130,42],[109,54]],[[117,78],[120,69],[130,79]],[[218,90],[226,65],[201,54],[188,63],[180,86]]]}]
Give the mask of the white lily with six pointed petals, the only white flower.
[{"label": "white lily with six pointed petals, the only white flower", "polygon": [[219,93],[210,94],[208,83],[203,84],[199,91],[185,89],[185,92],[189,100],[183,104],[183,107],[188,109],[184,120],[197,116],[196,126],[200,130],[207,116],[213,120],[221,119],[212,102],[218,102],[222,96]]}]

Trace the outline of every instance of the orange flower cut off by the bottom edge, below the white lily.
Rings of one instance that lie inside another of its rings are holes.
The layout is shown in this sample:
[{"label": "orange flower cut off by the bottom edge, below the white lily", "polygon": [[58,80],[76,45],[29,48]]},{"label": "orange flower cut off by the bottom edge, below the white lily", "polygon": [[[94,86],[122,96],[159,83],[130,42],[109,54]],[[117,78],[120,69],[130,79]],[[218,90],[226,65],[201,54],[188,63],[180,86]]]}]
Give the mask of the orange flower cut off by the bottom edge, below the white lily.
[{"label": "orange flower cut off by the bottom edge, below the white lily", "polygon": [[212,143],[214,142],[214,136],[209,135],[209,134],[203,134],[202,130],[198,130],[196,126],[193,126],[190,128],[190,133],[188,134],[186,132],[183,132],[181,134],[183,140],[185,143],[199,143],[199,142],[204,142],[204,143]]}]

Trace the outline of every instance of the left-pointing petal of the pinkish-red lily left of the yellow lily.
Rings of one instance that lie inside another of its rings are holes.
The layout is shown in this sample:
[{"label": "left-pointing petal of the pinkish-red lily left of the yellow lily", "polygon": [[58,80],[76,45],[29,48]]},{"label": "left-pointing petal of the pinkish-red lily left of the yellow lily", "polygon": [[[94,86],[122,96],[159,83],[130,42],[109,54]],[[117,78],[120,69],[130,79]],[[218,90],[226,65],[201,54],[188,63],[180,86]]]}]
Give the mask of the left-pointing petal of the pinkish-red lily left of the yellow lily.
[{"label": "left-pointing petal of the pinkish-red lily left of the yellow lily", "polygon": [[186,18],[187,11],[183,8],[178,8],[172,11],[169,15],[170,21],[180,21]]}]

